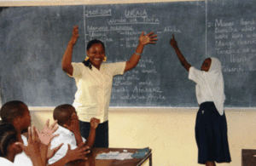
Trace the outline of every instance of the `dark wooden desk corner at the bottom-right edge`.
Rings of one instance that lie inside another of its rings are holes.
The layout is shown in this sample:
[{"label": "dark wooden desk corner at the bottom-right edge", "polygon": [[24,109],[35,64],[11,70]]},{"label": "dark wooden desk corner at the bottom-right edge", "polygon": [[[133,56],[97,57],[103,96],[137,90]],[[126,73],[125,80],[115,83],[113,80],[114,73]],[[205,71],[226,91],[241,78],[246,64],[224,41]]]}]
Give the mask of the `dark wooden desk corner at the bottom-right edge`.
[{"label": "dark wooden desk corner at the bottom-right edge", "polygon": [[241,165],[242,166],[254,166],[256,165],[256,150],[242,149],[241,150]]}]

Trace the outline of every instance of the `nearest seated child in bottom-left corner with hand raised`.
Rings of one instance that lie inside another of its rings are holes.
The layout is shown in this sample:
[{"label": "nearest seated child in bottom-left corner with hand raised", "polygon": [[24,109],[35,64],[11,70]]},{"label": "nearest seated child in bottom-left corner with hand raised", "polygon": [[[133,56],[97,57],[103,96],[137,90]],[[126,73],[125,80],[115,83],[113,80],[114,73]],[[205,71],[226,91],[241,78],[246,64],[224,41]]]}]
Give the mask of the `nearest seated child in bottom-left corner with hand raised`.
[{"label": "nearest seated child in bottom-left corner with hand raised", "polygon": [[[35,128],[31,132],[29,129],[28,145],[24,146],[18,131],[11,123],[0,123],[0,163],[3,166],[15,166],[15,156],[26,151],[26,154],[32,158],[33,165],[44,166],[43,158],[40,154],[40,144],[38,135],[35,135]],[[36,139],[32,139],[36,138]]]}]

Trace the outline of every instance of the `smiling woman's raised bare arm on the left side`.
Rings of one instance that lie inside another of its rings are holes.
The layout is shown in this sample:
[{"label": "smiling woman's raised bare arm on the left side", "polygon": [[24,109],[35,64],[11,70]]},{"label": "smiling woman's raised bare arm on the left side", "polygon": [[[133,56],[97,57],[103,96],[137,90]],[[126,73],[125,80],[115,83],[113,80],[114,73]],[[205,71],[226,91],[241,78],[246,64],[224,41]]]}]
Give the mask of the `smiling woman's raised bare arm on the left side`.
[{"label": "smiling woman's raised bare arm on the left side", "polygon": [[79,38],[79,26],[73,27],[73,35],[67,44],[67,49],[62,57],[61,66],[62,70],[66,72],[68,75],[73,76],[73,66],[71,65],[72,62],[72,53],[73,53],[73,46],[77,42]]}]

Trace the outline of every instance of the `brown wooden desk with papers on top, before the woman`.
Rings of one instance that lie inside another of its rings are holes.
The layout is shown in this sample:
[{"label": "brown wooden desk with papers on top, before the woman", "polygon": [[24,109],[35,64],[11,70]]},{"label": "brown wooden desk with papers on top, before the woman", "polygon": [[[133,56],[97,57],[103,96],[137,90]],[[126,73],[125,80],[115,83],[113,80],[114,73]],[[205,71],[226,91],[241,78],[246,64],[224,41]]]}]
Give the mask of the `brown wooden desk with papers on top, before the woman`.
[{"label": "brown wooden desk with papers on top, before the woman", "polygon": [[88,160],[76,160],[71,163],[68,163],[67,166],[140,166],[145,161],[149,159],[149,166],[152,166],[152,151],[148,152],[148,154],[143,158],[132,158],[125,160],[99,160],[96,159],[97,154],[101,154],[103,152],[123,152],[123,150],[127,150],[127,152],[137,152],[138,149],[126,149],[126,148],[94,148],[91,150],[90,154],[87,155]]}]

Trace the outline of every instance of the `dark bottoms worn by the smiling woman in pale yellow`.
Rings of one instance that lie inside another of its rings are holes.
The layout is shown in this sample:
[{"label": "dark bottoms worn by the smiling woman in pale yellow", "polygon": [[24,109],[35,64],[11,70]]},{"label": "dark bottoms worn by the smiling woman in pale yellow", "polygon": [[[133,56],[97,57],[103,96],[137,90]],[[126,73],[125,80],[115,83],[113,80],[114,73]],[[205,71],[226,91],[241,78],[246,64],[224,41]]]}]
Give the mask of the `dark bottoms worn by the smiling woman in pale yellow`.
[{"label": "dark bottoms worn by the smiling woman in pale yellow", "polygon": [[[79,129],[82,137],[87,139],[90,133],[90,123],[79,121]],[[99,123],[96,128],[93,147],[108,147],[108,121]]]}]

